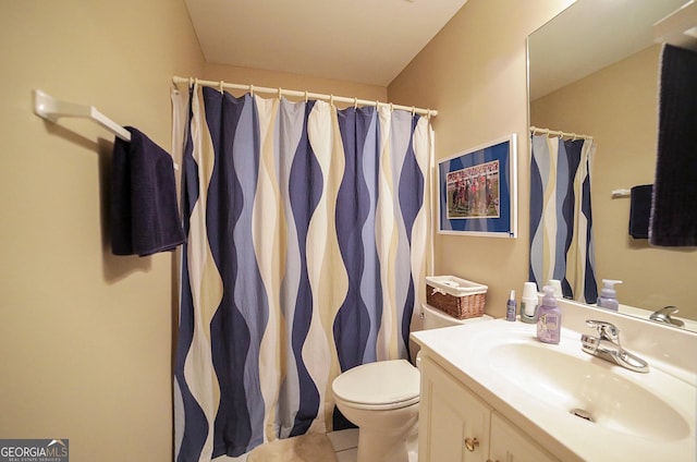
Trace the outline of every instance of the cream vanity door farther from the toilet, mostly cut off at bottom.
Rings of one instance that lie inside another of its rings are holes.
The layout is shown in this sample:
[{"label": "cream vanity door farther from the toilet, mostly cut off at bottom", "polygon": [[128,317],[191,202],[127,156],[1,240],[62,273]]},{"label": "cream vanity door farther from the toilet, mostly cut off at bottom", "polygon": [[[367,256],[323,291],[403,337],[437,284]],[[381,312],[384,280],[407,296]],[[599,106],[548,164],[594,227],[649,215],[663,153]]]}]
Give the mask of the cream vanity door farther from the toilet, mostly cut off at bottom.
[{"label": "cream vanity door farther from the toilet, mostly cut off at bottom", "polygon": [[498,415],[491,415],[491,462],[555,462],[552,454]]}]

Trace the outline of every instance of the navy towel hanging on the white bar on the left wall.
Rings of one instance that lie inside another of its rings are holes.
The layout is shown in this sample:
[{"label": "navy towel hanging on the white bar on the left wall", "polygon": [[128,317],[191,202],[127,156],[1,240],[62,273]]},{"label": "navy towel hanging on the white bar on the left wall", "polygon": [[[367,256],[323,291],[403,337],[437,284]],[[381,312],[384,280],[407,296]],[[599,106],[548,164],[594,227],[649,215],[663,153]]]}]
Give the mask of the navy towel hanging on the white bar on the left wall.
[{"label": "navy towel hanging on the white bar on the left wall", "polygon": [[172,156],[138,130],[115,138],[111,166],[111,252],[146,256],[185,240]]}]

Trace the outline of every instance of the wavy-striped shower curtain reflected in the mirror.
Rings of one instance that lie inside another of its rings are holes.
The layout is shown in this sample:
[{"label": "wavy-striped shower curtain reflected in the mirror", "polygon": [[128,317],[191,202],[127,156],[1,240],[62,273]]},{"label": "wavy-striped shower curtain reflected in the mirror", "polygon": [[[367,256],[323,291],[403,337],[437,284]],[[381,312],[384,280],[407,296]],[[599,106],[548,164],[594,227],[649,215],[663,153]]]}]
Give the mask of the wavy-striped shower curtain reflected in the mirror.
[{"label": "wavy-striped shower curtain reflected in the mirror", "polygon": [[538,288],[562,282],[565,297],[595,303],[590,162],[592,139],[531,136],[530,273]]}]

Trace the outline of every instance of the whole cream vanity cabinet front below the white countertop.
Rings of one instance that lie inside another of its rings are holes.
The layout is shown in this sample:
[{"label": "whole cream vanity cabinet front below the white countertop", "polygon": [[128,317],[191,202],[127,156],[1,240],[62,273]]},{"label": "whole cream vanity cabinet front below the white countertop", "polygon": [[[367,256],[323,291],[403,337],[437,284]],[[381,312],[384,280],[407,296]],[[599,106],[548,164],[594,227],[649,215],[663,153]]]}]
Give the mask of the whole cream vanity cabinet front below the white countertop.
[{"label": "whole cream vanity cabinet front below the white countertop", "polygon": [[419,462],[551,462],[553,458],[429,357],[421,360]]}]

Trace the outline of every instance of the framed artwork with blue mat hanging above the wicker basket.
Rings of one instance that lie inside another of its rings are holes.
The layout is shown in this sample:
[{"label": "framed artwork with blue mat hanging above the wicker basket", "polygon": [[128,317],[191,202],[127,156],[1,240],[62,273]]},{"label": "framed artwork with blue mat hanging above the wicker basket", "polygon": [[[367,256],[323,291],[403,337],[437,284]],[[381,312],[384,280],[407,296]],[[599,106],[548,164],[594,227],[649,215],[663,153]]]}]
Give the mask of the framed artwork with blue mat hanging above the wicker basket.
[{"label": "framed artwork with blue mat hanging above the wicker basket", "polygon": [[516,238],[516,135],[438,162],[438,232]]}]

